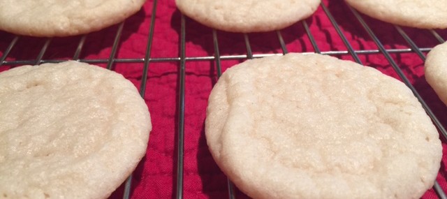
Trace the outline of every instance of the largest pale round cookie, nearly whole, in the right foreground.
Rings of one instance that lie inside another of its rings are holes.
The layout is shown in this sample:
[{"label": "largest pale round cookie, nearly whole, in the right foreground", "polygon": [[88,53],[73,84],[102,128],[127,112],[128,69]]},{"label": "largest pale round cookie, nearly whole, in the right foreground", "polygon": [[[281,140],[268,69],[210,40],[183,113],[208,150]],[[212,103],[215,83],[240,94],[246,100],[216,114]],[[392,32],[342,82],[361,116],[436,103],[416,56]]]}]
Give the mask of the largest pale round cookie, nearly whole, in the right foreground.
[{"label": "largest pale round cookie, nearly whole, in the right foreground", "polygon": [[321,54],[228,68],[210,94],[205,135],[252,198],[418,198],[442,156],[437,129],[402,82]]}]

